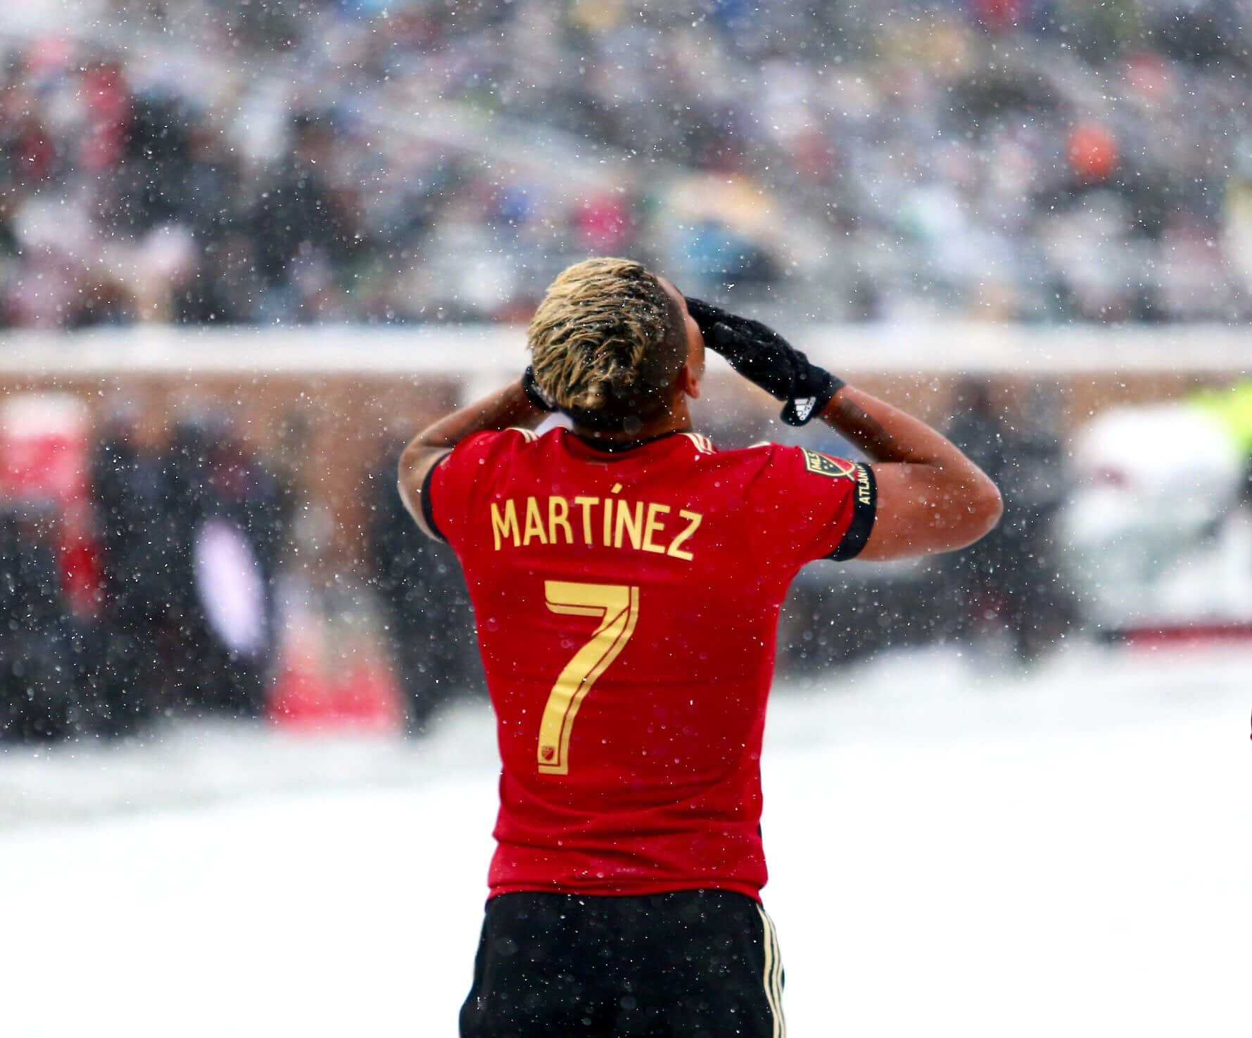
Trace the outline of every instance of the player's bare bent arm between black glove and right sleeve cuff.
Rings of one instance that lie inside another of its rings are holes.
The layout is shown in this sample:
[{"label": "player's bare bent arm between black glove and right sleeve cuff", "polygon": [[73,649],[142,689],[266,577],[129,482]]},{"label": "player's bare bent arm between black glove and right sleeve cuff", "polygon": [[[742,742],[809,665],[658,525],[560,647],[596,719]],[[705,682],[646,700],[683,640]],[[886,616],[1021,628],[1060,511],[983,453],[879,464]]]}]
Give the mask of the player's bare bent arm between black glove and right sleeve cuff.
[{"label": "player's bare bent arm between black glove and right sleeve cuff", "polygon": [[999,522],[995,484],[924,421],[851,385],[830,399],[821,419],[875,463],[878,518],[860,558],[963,548]]}]

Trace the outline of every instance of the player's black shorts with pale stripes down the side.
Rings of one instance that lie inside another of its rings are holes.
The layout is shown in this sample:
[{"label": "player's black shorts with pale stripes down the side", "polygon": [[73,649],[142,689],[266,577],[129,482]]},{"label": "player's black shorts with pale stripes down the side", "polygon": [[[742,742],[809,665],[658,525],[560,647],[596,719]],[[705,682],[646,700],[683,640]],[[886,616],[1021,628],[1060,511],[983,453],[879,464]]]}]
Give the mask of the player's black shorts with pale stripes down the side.
[{"label": "player's black shorts with pale stripes down the side", "polygon": [[749,897],[501,894],[462,1038],[784,1038],[774,924]]}]

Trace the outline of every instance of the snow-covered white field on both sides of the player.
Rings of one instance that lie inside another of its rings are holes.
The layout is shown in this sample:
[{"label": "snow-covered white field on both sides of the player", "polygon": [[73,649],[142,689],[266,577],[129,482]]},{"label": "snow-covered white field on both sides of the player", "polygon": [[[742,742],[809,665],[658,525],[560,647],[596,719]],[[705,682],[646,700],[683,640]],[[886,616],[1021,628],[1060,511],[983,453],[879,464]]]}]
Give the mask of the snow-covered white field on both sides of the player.
[{"label": "snow-covered white field on both sides of the player", "polygon": [[[1248,1034],[1249,710],[1247,650],[936,650],[781,689],[789,1033]],[[0,1033],[451,1038],[493,798],[482,704],[421,743],[0,752]]]}]

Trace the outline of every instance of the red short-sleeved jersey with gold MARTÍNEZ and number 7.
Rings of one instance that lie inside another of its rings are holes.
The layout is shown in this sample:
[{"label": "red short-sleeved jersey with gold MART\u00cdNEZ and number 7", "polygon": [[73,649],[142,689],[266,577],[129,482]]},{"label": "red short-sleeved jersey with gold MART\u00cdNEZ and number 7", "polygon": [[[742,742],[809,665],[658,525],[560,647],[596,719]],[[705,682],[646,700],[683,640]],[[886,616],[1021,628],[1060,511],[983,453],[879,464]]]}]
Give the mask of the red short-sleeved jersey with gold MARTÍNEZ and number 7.
[{"label": "red short-sleeved jersey with gold MART\u00cdNEZ and number 7", "polygon": [[508,429],[459,443],[422,501],[464,569],[496,712],[492,895],[759,897],[779,608],[801,565],[864,545],[869,466]]}]

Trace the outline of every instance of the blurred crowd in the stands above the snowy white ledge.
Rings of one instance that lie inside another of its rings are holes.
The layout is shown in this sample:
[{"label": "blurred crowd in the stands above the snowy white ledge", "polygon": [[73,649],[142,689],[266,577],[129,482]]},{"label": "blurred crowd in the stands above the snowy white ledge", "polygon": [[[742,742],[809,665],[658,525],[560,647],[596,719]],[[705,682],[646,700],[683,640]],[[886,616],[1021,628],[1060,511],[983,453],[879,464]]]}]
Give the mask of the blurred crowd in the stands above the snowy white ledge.
[{"label": "blurred crowd in the stands above the snowy white ledge", "polygon": [[1252,316],[1248,0],[35,8],[4,325],[517,320],[588,253],[811,319]]}]

